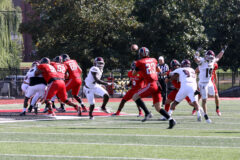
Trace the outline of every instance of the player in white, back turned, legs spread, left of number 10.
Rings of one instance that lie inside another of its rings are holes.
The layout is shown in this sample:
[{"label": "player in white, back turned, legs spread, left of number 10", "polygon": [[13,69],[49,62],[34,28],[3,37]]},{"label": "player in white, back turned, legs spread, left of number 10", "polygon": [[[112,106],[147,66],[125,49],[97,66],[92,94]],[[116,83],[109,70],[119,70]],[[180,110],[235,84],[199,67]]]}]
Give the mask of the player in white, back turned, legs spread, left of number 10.
[{"label": "player in white, back turned, legs spread, left of number 10", "polygon": [[[169,110],[169,114],[171,115],[173,110],[175,110],[176,106],[185,98],[189,97],[191,103],[197,111],[197,119],[201,121],[201,113],[202,111],[200,105],[198,104],[196,91],[197,91],[197,81],[196,74],[194,69],[191,68],[191,63],[189,60],[185,59],[181,63],[181,68],[175,69],[171,72],[171,80],[176,80],[177,78],[181,82],[181,87],[176,95],[174,102],[171,105]],[[202,111],[203,112],[203,111]]]}]

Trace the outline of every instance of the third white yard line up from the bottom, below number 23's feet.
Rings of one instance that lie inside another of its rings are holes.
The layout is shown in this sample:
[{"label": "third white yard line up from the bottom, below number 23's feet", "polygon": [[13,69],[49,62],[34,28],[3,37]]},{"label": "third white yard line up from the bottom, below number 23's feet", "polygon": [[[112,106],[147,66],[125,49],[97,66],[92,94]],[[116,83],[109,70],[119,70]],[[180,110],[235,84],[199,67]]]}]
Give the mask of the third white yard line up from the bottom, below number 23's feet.
[{"label": "third white yard line up from the bottom, below number 23's feet", "polygon": [[173,137],[173,138],[221,138],[221,139],[240,139],[240,137],[222,136],[175,136],[175,135],[145,135],[145,134],[101,134],[101,133],[34,133],[34,132],[0,132],[0,134],[26,134],[26,135],[68,135],[68,136],[122,136],[122,137]]}]

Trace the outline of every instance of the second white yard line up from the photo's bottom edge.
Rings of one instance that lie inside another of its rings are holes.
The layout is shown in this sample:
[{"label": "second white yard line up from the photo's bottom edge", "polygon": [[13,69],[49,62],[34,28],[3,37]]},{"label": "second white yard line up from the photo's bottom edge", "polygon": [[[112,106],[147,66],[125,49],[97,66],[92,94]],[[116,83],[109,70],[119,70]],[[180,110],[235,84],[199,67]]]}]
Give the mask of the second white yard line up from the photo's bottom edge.
[{"label": "second white yard line up from the photo's bottom edge", "polygon": [[187,148],[220,148],[220,149],[226,149],[226,148],[231,148],[231,149],[240,149],[240,147],[230,147],[230,146],[194,146],[194,145],[164,145],[164,144],[133,144],[133,143],[128,143],[128,144],[120,144],[120,143],[87,143],[87,142],[39,142],[39,141],[0,141],[0,143],[37,143],[37,144],[81,144],[81,145],[108,145],[108,146],[144,146],[144,147],[187,147]]}]

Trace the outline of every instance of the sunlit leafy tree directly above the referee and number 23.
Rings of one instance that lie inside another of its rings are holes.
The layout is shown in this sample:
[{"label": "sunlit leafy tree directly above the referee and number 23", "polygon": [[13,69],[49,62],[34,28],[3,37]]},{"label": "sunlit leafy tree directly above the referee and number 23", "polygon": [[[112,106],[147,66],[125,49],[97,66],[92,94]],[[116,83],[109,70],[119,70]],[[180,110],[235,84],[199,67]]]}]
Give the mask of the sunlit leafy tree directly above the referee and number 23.
[{"label": "sunlit leafy tree directly above the referee and number 23", "polygon": [[155,57],[191,58],[208,41],[201,19],[205,4],[205,0],[136,1],[133,15],[142,26],[134,35]]}]

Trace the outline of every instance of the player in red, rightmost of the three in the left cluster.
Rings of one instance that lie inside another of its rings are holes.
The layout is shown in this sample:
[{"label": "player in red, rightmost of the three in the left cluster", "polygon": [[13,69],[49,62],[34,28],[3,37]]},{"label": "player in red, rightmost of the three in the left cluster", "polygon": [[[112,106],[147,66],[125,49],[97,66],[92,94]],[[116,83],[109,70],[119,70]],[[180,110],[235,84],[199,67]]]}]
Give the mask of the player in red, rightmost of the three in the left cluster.
[{"label": "player in red, rightmost of the three in the left cluster", "polygon": [[68,54],[61,55],[63,58],[63,62],[67,67],[67,72],[69,74],[69,79],[66,81],[66,89],[67,91],[72,90],[72,96],[74,99],[80,103],[82,107],[83,112],[87,112],[87,109],[85,105],[83,104],[83,101],[78,96],[78,93],[80,91],[81,85],[82,85],[82,69],[79,67],[76,60],[70,59]]}]

